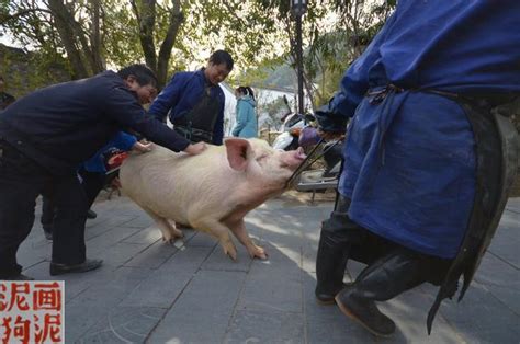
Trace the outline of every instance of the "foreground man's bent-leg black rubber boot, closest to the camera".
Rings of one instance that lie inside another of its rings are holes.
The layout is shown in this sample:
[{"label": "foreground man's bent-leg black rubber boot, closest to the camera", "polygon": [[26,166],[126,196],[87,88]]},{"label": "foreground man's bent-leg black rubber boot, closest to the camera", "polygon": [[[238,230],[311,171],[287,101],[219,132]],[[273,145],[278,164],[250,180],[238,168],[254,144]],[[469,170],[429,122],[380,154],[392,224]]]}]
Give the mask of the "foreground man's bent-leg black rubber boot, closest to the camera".
[{"label": "foreground man's bent-leg black rubber boot, closest to the camera", "polygon": [[363,270],[355,282],[336,296],[340,310],[378,336],[395,332],[395,323],[375,301],[386,301],[425,282],[421,256],[408,250],[393,252]]}]

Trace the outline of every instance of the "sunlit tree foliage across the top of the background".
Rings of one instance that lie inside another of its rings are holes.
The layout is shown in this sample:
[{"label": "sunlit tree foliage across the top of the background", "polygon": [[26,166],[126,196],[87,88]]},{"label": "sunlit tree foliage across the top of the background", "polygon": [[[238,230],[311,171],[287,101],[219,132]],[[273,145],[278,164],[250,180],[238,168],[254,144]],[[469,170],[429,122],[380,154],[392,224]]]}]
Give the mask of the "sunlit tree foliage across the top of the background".
[{"label": "sunlit tree foliage across the top of the background", "polygon": [[[135,0],[135,3],[139,5],[142,1]],[[170,25],[172,2],[158,1],[154,7],[152,34],[157,53]],[[0,24],[19,44],[39,50],[42,59],[70,58],[46,3],[0,0]],[[94,28],[92,3],[87,0],[66,2],[87,42]],[[100,1],[102,46],[99,57],[108,68],[145,61],[139,41],[143,27],[129,3],[128,0]],[[289,0],[184,0],[180,3],[183,22],[169,59],[170,74],[204,66],[213,50],[224,48],[236,60],[235,71],[229,77],[231,83],[293,83],[295,37]],[[303,16],[304,76],[316,106],[337,90],[344,69],[371,41],[394,7],[395,0],[309,1]],[[82,57],[88,57],[89,51],[82,43],[81,48]],[[293,71],[282,69],[280,72],[278,67],[284,64]],[[67,66],[71,70],[70,59]],[[269,78],[273,70],[278,74]]]}]

